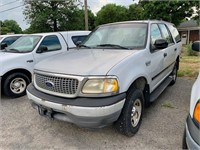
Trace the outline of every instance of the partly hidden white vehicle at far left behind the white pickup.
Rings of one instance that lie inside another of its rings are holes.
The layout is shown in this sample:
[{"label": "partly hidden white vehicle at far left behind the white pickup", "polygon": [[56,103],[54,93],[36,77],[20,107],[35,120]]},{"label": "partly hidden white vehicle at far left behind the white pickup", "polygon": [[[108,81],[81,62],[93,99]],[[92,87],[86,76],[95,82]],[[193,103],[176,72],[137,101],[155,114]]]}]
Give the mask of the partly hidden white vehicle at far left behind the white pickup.
[{"label": "partly hidden white vehicle at far left behind the white pickup", "polygon": [[0,35],[0,50],[14,43],[23,34]]}]

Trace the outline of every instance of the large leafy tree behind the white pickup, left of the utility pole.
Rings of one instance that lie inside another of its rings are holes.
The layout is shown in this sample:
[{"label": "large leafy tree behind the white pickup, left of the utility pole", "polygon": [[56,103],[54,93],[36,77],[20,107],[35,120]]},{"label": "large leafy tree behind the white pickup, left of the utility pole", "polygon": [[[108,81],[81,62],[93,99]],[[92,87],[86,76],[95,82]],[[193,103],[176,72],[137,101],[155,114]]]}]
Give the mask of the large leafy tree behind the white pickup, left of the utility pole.
[{"label": "large leafy tree behind the white pickup, left of the utility pole", "polygon": [[[83,10],[77,0],[24,0],[26,19],[31,24],[26,32],[51,32],[85,28]],[[93,15],[94,16],[94,15]]]}]

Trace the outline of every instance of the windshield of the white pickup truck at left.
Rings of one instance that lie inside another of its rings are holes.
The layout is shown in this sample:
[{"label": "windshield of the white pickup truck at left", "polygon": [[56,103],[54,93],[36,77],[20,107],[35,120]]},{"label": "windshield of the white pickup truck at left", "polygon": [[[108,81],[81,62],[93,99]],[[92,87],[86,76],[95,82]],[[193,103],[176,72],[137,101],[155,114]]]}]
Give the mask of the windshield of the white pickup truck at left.
[{"label": "windshield of the white pickup truck at left", "polygon": [[6,51],[19,53],[31,52],[40,41],[40,39],[41,36],[38,35],[22,36],[9,47],[7,47]]}]

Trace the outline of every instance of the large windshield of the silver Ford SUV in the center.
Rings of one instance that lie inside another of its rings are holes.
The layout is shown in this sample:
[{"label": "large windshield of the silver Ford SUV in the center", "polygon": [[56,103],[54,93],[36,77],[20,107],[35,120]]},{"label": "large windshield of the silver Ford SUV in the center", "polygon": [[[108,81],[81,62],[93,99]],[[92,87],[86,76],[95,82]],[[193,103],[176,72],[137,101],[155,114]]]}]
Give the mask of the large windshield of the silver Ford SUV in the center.
[{"label": "large windshield of the silver Ford SUV in the center", "polygon": [[97,28],[83,42],[88,48],[140,49],[146,46],[147,24],[113,24]]}]

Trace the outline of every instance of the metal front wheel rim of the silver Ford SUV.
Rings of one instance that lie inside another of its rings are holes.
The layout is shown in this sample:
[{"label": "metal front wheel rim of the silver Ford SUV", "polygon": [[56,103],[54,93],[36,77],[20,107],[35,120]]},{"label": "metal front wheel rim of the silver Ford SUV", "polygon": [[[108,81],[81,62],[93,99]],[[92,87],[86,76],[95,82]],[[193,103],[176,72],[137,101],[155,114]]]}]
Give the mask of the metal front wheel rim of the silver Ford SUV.
[{"label": "metal front wheel rim of the silver Ford SUV", "polygon": [[142,104],[140,99],[136,99],[134,104],[133,104],[133,108],[132,108],[132,112],[131,112],[131,125],[133,127],[136,127],[140,121],[140,117],[141,117],[141,112],[142,112]]}]

